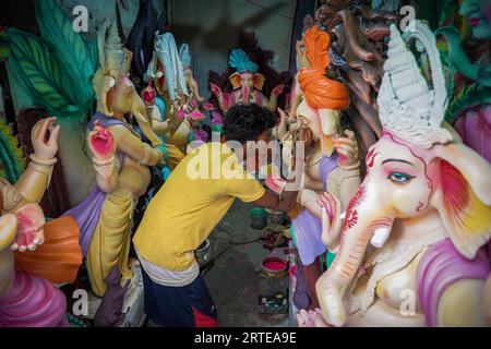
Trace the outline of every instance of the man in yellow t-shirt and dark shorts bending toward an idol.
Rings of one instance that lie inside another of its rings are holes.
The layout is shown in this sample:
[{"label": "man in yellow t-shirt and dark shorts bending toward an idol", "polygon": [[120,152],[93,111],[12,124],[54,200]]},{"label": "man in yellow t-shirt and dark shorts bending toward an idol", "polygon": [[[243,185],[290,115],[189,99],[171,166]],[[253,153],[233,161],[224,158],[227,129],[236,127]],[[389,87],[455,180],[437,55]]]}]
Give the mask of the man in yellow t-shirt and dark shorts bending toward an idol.
[{"label": "man in yellow t-shirt and dark shorts bending toward an idol", "polygon": [[[289,212],[298,192],[277,195],[244,169],[251,142],[271,141],[276,116],[254,104],[231,108],[225,139],[190,153],[149,203],[133,238],[142,264],[145,312],[163,326],[216,326],[212,297],[194,251],[206,240],[236,197]],[[230,144],[236,144],[233,152]],[[239,145],[239,146],[237,146]]]}]

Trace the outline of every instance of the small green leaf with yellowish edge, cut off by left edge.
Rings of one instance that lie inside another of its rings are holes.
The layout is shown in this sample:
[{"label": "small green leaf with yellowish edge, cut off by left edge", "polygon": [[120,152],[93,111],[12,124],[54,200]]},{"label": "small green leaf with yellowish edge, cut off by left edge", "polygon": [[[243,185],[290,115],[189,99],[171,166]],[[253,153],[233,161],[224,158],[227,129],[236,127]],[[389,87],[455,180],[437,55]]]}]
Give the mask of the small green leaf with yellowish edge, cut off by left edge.
[{"label": "small green leaf with yellowish edge, cut off by left edge", "polygon": [[0,177],[15,183],[24,172],[26,159],[24,152],[13,136],[12,130],[0,120]]}]

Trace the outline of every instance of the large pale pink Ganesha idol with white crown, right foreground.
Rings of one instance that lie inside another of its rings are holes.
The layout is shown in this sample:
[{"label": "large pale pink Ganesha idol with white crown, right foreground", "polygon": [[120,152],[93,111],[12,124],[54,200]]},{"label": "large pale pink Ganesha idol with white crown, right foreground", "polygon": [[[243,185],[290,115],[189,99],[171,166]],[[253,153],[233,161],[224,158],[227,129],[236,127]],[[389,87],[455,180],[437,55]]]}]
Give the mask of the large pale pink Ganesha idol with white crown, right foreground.
[{"label": "large pale pink Ganesha idol with white crown, right foreground", "polygon": [[[433,89],[396,26],[378,103],[384,129],[300,326],[490,326],[491,165],[442,121],[446,89],[434,36],[416,22]],[[336,233],[324,205],[323,234]],[[338,226],[338,225],[333,225]]]}]

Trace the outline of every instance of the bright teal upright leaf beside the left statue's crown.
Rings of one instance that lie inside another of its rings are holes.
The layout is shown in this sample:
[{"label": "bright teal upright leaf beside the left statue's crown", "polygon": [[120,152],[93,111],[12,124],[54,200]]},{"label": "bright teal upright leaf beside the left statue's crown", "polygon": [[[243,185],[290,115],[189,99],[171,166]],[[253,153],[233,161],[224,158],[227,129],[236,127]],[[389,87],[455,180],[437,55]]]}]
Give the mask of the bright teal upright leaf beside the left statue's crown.
[{"label": "bright teal upright leaf beside the left statue's crown", "polygon": [[[36,20],[43,40],[49,46],[71,86],[64,93],[72,103],[88,104],[94,95],[92,76],[95,67],[87,45],[80,33],[73,29],[57,1],[36,1]],[[76,88],[75,88],[76,86]]]}]

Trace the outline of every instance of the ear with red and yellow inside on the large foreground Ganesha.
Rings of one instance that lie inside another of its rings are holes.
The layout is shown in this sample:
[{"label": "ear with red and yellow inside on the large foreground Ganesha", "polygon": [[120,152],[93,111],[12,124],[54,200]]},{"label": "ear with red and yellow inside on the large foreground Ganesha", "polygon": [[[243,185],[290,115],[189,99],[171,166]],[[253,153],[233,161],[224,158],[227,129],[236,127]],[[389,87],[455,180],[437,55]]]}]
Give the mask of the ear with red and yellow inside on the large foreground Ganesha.
[{"label": "ear with red and yellow inside on the large foreground Ganesha", "polygon": [[435,154],[436,207],[455,248],[472,260],[491,236],[491,165],[460,143],[436,145]]}]

